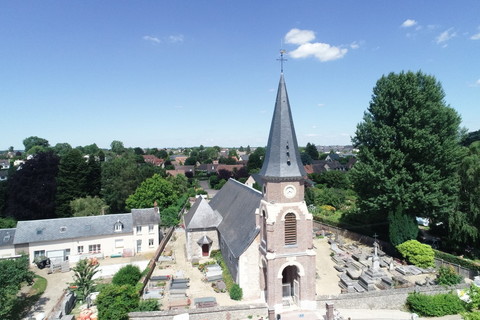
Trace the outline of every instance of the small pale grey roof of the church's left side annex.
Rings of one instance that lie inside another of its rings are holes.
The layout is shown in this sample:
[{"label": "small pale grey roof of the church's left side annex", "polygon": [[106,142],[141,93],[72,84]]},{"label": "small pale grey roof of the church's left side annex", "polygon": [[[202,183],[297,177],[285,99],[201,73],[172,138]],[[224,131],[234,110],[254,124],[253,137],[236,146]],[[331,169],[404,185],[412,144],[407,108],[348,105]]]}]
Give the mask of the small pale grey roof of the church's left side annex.
[{"label": "small pale grey roof of the church's left side annex", "polygon": [[207,200],[198,197],[185,215],[185,228],[187,230],[216,228],[221,221],[222,216],[213,211]]}]

